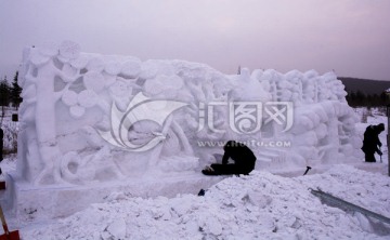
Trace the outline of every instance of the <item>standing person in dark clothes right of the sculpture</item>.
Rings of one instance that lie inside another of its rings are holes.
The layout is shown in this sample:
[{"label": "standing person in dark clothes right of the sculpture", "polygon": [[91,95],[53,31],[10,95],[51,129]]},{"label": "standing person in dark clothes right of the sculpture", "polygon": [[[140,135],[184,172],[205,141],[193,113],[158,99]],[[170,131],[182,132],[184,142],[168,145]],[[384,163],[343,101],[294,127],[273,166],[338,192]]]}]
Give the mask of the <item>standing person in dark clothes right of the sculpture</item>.
[{"label": "standing person in dark clothes right of the sculpture", "polygon": [[379,141],[379,134],[385,130],[385,124],[379,123],[378,125],[368,125],[364,132],[363,147],[362,150],[365,154],[366,162],[376,162],[375,152],[379,156],[382,155],[379,147],[381,143]]}]

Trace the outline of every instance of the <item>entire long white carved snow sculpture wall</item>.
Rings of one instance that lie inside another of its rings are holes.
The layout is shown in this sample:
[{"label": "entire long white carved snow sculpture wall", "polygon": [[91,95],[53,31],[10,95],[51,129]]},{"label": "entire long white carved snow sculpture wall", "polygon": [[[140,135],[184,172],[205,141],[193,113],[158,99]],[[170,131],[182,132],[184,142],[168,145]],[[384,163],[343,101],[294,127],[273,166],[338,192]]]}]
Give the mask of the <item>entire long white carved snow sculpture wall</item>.
[{"label": "entire long white carved snow sculpture wall", "polygon": [[226,76],[184,61],[81,53],[65,41],[26,49],[21,76],[17,173],[35,184],[198,171],[221,151],[216,142],[232,137],[255,143],[259,168],[277,159],[332,162],[359,147],[353,111],[333,72],[244,68]]}]

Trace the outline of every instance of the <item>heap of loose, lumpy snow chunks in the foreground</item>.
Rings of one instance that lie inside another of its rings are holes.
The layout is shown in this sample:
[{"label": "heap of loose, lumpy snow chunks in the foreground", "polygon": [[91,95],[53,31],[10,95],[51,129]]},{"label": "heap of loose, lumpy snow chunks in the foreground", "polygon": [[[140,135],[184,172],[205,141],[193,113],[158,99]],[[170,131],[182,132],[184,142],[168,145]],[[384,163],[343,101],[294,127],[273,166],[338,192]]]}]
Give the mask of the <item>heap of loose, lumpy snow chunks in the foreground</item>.
[{"label": "heap of loose, lumpy snow chunks in the foreground", "polygon": [[390,226],[322,204],[320,187],[390,216],[390,178],[335,165],[294,178],[253,172],[229,177],[204,197],[142,199],[113,194],[108,203],[51,226],[22,229],[24,239],[389,239]]}]

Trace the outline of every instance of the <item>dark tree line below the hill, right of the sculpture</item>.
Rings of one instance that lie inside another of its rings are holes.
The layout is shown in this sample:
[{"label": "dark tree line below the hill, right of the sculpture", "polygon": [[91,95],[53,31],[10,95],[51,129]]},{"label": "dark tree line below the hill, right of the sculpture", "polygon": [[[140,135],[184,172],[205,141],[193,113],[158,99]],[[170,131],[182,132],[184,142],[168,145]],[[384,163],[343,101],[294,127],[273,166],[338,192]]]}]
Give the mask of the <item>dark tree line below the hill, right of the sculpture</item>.
[{"label": "dark tree line below the hill, right of the sculpture", "polygon": [[384,91],[381,94],[365,94],[358,90],[348,92],[347,102],[351,107],[382,107],[390,104],[389,95]]}]

